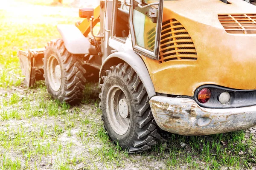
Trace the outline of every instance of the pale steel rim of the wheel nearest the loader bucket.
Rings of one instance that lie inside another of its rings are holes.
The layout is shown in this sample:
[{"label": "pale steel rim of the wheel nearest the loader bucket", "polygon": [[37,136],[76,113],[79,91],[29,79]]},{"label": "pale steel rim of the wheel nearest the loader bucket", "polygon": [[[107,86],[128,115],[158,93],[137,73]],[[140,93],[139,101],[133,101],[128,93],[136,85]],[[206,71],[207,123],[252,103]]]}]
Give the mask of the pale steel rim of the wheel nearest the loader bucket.
[{"label": "pale steel rim of the wheel nearest the loader bucket", "polygon": [[61,88],[61,67],[54,55],[50,55],[47,60],[47,79],[54,91]]}]

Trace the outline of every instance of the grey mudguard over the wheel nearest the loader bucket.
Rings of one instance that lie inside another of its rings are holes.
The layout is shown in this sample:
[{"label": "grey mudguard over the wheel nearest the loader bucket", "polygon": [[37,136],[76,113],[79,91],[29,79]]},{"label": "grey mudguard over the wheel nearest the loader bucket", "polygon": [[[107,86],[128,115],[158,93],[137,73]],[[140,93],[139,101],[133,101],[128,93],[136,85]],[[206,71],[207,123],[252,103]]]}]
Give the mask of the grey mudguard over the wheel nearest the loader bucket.
[{"label": "grey mudguard over the wheel nearest the loader bucket", "polygon": [[92,45],[79,28],[67,24],[58,25],[57,28],[63,38],[67,51],[71,54],[90,54],[89,51]]}]

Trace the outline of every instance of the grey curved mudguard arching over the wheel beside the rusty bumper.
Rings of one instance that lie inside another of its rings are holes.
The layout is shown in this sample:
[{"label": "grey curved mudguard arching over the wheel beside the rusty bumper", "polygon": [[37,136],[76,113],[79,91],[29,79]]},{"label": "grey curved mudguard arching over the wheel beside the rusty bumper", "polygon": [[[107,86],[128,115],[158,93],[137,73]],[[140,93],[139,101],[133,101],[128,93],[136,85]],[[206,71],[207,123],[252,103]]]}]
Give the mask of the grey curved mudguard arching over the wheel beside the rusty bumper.
[{"label": "grey curved mudguard arching over the wheel beside the rusty bumper", "polygon": [[126,62],[128,65],[131,66],[131,68],[134,69],[134,71],[143,82],[149,98],[156,96],[154,85],[148,73],[148,69],[146,68],[140,56],[132,50],[115,52],[105,59],[99,72],[99,85],[102,82],[102,76],[104,75],[104,72],[110,69],[111,66],[117,65],[121,62]]}]

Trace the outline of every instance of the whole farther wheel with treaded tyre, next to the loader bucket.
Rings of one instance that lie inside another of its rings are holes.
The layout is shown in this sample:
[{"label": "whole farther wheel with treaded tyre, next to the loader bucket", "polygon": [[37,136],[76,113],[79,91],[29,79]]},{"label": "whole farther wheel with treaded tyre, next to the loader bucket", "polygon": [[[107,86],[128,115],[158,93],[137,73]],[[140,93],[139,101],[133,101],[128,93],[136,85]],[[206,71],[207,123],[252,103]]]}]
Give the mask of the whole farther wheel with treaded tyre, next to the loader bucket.
[{"label": "whole farther wheel with treaded tyre, next to the loader bucket", "polygon": [[[84,78],[86,71],[83,68],[84,61],[82,57],[83,55],[70,54],[62,39],[48,43],[44,53],[44,78],[47,90],[54,99],[70,105],[76,105],[81,101],[86,82]],[[54,63],[56,65],[57,61],[59,65],[58,72],[61,75],[56,76],[57,71],[51,68],[51,65]],[[59,77],[59,79],[56,77]]]}]

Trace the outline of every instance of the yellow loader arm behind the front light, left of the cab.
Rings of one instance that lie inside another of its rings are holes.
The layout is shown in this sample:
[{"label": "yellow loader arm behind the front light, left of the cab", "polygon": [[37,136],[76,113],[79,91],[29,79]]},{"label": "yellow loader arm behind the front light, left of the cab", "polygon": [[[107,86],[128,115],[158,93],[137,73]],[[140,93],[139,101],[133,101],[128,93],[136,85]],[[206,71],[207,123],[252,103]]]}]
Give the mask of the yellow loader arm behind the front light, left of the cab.
[{"label": "yellow loader arm behind the front light, left of the cab", "polygon": [[[97,6],[94,9],[94,20],[93,26],[95,26],[99,22],[99,15],[100,15],[100,6]],[[84,19],[79,26],[77,26],[84,36],[87,36],[90,33],[90,20]]]}]

